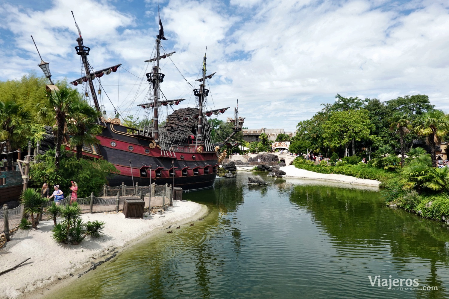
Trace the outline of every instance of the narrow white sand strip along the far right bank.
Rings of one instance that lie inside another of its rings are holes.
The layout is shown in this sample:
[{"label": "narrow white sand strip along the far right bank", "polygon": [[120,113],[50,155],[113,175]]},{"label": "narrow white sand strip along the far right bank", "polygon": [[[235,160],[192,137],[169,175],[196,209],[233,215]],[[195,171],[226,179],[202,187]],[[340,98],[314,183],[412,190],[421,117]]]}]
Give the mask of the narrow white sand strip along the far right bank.
[{"label": "narrow white sand strip along the far right bank", "polygon": [[281,167],[281,169],[286,172],[286,175],[284,175],[284,177],[308,178],[308,179],[313,179],[313,180],[325,180],[325,181],[329,181],[329,182],[339,182],[339,183],[374,186],[374,187],[379,187],[381,184],[381,182],[376,181],[376,180],[355,178],[355,177],[351,177],[351,176],[343,175],[343,174],[316,173],[313,171],[296,168],[294,165]]}]

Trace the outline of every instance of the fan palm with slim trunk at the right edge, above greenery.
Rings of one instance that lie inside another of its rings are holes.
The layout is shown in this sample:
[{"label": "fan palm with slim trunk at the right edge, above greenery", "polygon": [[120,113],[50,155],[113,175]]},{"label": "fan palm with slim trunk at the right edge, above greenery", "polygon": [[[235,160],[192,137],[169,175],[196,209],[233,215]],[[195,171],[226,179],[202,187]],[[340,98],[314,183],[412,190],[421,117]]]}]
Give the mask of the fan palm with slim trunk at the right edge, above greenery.
[{"label": "fan palm with slim trunk at the right edge, above greenery", "polygon": [[449,132],[449,119],[442,110],[431,110],[424,113],[413,122],[414,133],[426,136],[426,143],[430,145],[432,166],[436,167],[436,144],[441,143],[441,138]]}]

